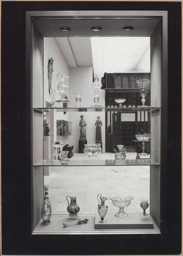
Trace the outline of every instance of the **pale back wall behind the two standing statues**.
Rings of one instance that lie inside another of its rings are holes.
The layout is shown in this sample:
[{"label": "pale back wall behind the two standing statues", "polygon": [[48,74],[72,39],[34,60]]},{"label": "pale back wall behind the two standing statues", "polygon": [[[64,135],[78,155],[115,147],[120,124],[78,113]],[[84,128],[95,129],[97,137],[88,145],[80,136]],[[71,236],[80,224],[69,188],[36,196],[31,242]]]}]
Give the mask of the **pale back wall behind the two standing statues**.
[{"label": "pale back wall behind the two standing statues", "polygon": [[[93,82],[93,67],[82,66],[77,68],[70,68],[70,101],[71,106],[75,106],[76,93],[81,95],[82,107],[90,107],[94,105],[93,98],[94,94],[91,88],[91,83]],[[105,106],[105,92],[101,90],[100,95],[101,105]],[[79,136],[80,136],[80,126],[79,120],[80,115],[84,115],[84,119],[87,123],[86,126],[86,138],[88,143],[95,143],[96,126],[95,122],[97,116],[101,117],[103,123],[102,129],[102,142],[103,142],[103,152],[105,152],[105,112],[101,111],[87,111],[87,112],[70,112],[70,121],[72,122],[72,134],[69,136],[69,143],[74,145],[74,152],[79,151]]]}]

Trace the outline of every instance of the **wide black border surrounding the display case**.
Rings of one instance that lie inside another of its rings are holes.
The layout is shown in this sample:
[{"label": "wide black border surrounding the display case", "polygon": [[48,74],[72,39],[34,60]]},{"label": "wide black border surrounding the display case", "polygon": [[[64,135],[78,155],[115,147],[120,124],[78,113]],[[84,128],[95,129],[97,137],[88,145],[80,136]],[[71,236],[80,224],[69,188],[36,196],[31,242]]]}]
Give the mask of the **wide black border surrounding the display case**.
[{"label": "wide black border surrounding the display case", "polygon": [[[168,11],[168,157],[167,178],[162,184],[168,199],[163,209],[167,216],[164,235],[30,235],[26,11],[58,10]],[[2,2],[1,31],[2,254],[180,254],[181,2]]]}]

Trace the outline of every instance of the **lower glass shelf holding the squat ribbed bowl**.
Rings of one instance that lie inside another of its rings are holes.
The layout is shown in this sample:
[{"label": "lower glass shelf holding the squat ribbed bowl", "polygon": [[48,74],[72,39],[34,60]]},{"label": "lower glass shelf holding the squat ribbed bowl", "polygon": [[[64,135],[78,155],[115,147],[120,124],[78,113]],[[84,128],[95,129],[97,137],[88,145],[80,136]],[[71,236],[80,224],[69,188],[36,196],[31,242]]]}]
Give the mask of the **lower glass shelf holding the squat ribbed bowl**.
[{"label": "lower glass shelf holding the squat ribbed bowl", "polygon": [[137,165],[160,165],[152,159],[126,159],[123,161],[96,159],[93,157],[89,159],[75,160],[69,159],[68,164],[61,164],[59,160],[43,159],[34,166],[137,166]]}]

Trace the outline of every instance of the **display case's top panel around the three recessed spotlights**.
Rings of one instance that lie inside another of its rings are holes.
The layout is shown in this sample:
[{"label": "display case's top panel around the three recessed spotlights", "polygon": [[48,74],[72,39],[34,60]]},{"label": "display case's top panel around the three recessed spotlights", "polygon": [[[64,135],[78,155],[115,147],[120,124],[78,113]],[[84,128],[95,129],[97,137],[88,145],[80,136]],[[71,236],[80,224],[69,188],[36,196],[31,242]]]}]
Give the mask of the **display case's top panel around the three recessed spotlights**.
[{"label": "display case's top panel around the three recessed spotlights", "polygon": [[[72,36],[151,36],[160,18],[130,19],[34,19],[40,33],[45,37]],[[91,27],[102,27],[95,32]],[[134,30],[124,31],[125,26]],[[70,27],[68,32],[60,31],[60,27]]]}]

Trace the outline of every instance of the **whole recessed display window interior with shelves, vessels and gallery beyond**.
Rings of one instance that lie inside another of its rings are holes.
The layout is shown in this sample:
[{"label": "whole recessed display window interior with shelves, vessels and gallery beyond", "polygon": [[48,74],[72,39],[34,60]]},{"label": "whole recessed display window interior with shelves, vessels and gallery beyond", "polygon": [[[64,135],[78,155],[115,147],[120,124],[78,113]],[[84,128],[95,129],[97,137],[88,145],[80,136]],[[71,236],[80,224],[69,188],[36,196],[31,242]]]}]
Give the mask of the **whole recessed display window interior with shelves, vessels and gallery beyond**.
[{"label": "whole recessed display window interior with shelves, vessels and gallery beyond", "polygon": [[33,234],[160,234],[161,22],[34,18]]}]

